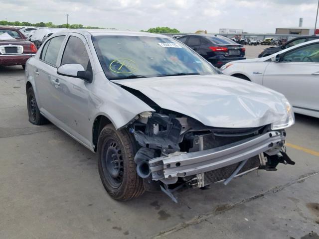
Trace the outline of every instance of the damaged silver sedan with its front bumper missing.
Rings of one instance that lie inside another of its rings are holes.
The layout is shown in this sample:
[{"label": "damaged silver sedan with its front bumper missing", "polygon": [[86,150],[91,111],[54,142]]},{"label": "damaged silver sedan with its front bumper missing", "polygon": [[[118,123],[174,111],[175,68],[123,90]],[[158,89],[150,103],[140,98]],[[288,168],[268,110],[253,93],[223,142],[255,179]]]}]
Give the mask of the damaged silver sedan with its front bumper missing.
[{"label": "damaged silver sedan with its front bumper missing", "polygon": [[25,70],[29,121],[49,121],[97,153],[116,200],[205,188],[294,164],[280,93],[220,74],[182,43],[145,32],[66,30]]}]

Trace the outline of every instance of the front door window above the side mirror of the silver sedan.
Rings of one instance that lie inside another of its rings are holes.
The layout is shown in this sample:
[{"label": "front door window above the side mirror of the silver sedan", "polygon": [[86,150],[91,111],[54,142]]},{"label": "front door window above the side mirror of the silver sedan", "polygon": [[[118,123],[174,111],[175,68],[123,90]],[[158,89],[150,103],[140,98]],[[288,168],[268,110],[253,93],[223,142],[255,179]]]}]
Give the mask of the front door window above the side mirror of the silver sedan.
[{"label": "front door window above the side mirror of the silver sedan", "polygon": [[75,36],[70,36],[62,57],[61,65],[80,64],[84,70],[88,69],[90,63],[89,55],[83,41]]}]

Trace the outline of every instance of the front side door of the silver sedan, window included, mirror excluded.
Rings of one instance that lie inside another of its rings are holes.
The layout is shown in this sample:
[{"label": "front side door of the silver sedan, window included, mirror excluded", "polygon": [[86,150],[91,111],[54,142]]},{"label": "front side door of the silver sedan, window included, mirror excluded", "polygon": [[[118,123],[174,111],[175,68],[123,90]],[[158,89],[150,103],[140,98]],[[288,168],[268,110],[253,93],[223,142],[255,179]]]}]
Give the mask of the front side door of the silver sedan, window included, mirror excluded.
[{"label": "front side door of the silver sedan, window included, mirror excluded", "polygon": [[[84,70],[91,71],[89,48],[85,38],[77,33],[70,33],[61,58],[61,65],[81,64]],[[89,90],[90,83],[76,77],[57,75],[59,86],[56,97],[59,101],[60,111],[57,115],[62,121],[65,129],[81,140],[84,144],[90,145],[92,128],[89,119]]]}]

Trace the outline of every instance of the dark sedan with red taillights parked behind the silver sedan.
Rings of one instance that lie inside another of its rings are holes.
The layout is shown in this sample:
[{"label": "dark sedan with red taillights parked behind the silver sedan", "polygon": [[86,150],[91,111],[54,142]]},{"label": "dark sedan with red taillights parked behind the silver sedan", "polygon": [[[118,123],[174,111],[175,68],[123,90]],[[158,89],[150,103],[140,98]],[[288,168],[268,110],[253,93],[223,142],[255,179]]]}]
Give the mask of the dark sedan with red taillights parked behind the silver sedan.
[{"label": "dark sedan with red taillights parked behind the silver sedan", "polygon": [[179,37],[177,40],[192,48],[216,67],[221,67],[230,61],[246,59],[245,48],[224,36],[191,34]]}]

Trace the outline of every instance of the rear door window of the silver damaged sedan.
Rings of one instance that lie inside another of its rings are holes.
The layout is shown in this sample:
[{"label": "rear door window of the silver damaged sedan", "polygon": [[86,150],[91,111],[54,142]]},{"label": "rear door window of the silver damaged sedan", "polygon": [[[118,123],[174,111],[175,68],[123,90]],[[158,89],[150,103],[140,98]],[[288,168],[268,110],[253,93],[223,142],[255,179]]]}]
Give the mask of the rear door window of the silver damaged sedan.
[{"label": "rear door window of the silver damaged sedan", "polygon": [[56,36],[48,41],[41,52],[40,59],[55,66],[65,36]]}]

